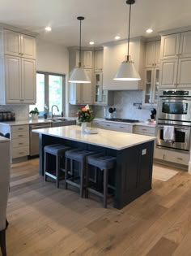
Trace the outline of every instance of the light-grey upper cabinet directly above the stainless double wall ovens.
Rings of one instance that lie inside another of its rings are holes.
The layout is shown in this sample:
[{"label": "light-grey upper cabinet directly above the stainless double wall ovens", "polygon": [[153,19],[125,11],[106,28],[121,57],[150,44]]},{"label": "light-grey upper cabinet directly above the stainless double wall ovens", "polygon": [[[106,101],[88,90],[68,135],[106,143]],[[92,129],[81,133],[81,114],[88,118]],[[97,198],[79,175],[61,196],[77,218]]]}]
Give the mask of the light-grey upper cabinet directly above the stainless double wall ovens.
[{"label": "light-grey upper cabinet directly above the stainless double wall ovens", "polygon": [[162,37],[160,88],[191,88],[191,31]]}]

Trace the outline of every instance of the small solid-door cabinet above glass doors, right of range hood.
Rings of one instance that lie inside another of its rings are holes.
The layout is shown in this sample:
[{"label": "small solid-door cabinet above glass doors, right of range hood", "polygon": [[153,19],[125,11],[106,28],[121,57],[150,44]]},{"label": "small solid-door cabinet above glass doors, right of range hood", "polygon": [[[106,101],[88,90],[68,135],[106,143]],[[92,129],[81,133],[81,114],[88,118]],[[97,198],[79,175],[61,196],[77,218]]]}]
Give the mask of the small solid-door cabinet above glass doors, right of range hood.
[{"label": "small solid-door cabinet above glass doors, right of range hood", "polygon": [[159,67],[160,64],[160,41],[146,42],[145,67]]}]

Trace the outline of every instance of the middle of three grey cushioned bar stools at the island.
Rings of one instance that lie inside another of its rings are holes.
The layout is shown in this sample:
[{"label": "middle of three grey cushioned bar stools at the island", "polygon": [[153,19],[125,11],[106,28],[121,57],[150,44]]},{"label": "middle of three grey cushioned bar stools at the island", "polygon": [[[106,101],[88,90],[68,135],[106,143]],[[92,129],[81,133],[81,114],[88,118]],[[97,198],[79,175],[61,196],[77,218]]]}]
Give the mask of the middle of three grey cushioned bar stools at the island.
[{"label": "middle of three grey cushioned bar stools at the island", "polygon": [[[74,187],[79,188],[80,197],[83,197],[83,189],[84,189],[84,175],[86,173],[86,158],[87,156],[95,154],[95,152],[88,150],[68,150],[65,154],[65,188],[68,189],[68,184],[73,185]],[[68,170],[68,161],[70,160],[70,176]],[[80,183],[77,184],[74,182],[74,161],[79,163],[79,171],[80,171]]]}]

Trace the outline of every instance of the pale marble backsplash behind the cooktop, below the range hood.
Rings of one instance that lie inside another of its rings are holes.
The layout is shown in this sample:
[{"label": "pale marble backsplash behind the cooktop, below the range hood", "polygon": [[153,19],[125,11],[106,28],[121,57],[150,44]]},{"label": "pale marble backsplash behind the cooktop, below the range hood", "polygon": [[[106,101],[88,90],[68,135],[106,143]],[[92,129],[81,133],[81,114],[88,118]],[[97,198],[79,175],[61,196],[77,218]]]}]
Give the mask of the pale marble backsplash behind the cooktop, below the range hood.
[{"label": "pale marble backsplash behind the cooktop, below the range hood", "polygon": [[[153,107],[134,106],[134,103],[142,103],[142,91],[115,91],[114,103],[111,107],[116,107],[115,117],[124,119],[138,119],[146,121],[151,118],[151,109]],[[91,106],[96,117],[104,118],[104,109],[108,114],[110,106]],[[79,106],[70,105],[70,116],[76,116]]]}]

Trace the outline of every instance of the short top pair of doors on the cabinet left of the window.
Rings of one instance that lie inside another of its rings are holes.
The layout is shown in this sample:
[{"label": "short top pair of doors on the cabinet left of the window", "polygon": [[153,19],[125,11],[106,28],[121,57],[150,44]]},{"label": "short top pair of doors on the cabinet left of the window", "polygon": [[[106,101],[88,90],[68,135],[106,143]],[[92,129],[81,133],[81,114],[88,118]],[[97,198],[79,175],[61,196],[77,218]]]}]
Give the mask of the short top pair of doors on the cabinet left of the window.
[{"label": "short top pair of doors on the cabinet left of the window", "polygon": [[4,29],[4,54],[36,59],[36,38]]}]

